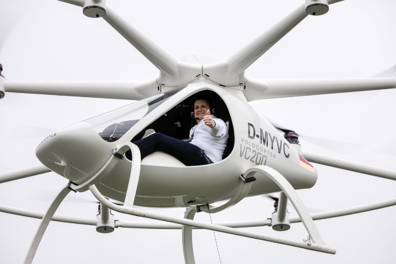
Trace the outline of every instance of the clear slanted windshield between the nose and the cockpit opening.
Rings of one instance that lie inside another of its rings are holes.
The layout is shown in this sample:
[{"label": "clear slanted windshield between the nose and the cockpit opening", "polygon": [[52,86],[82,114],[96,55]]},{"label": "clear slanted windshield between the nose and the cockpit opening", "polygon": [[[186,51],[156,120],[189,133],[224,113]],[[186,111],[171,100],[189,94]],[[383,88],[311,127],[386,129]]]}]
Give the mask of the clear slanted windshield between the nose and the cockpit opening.
[{"label": "clear slanted windshield between the nose and the cockpit opening", "polygon": [[179,86],[173,90],[165,91],[162,94],[84,120],[84,122],[89,123],[102,139],[108,142],[114,142],[121,138],[149,112],[163,104],[185,87],[187,87],[187,85]]}]

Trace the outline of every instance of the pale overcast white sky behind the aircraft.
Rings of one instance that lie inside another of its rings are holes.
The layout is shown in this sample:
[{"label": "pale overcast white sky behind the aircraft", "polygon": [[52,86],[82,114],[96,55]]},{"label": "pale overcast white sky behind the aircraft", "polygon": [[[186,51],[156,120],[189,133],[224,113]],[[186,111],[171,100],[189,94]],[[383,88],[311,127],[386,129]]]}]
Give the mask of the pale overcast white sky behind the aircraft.
[{"label": "pale overcast white sky behind the aircraft", "polygon": [[[127,1],[107,5],[177,58],[190,52],[228,57],[303,3],[302,0]],[[247,69],[249,78],[372,77],[396,64],[396,1],[346,0],[320,17],[308,16]],[[11,30],[9,18],[20,16]],[[0,0],[0,35],[7,38],[0,63],[7,80],[148,80],[158,70],[103,19],[55,0]],[[389,76],[390,77],[390,76]],[[396,91],[310,96],[251,103],[259,112],[298,133],[332,141],[304,141],[303,150],[396,170]],[[0,173],[39,163],[38,143],[54,130],[128,104],[129,101],[7,93],[0,101]],[[36,128],[35,128],[36,127]],[[37,129],[44,127],[48,129]],[[333,141],[343,141],[336,143]],[[314,164],[316,185],[298,194],[307,207],[336,210],[395,197],[391,180]],[[46,211],[67,182],[55,173],[3,183],[0,204]],[[94,200],[86,192],[69,196]],[[36,200],[33,200],[35,197]],[[39,201],[41,198],[48,201]],[[94,218],[97,205],[67,198],[57,214]],[[266,219],[272,202],[249,198],[213,221]],[[183,216],[184,209],[155,210]],[[291,215],[296,212],[293,208]],[[120,220],[140,220],[114,212]],[[394,263],[396,207],[315,221],[336,255],[216,233],[223,264]],[[209,221],[199,213],[197,220]],[[22,263],[38,219],[0,212],[0,262]],[[247,230],[301,241],[301,223],[288,232]],[[194,231],[196,262],[219,263],[213,232]],[[51,222],[36,264],[184,263],[181,230],[118,228]]]}]

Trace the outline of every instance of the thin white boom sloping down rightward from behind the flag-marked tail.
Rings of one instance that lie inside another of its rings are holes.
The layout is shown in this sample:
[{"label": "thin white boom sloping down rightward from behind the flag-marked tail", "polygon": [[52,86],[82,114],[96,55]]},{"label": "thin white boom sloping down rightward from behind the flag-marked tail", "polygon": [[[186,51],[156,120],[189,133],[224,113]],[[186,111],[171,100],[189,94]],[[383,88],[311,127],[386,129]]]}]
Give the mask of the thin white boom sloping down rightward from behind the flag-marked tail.
[{"label": "thin white boom sloping down rightward from behind the flag-marked tail", "polygon": [[385,179],[396,180],[396,171],[394,170],[384,169],[384,168],[370,166],[341,158],[333,158],[333,157],[323,156],[323,155],[304,152],[304,151],[302,152],[302,156],[310,162],[331,166],[335,168],[355,171],[363,174],[373,175]]}]

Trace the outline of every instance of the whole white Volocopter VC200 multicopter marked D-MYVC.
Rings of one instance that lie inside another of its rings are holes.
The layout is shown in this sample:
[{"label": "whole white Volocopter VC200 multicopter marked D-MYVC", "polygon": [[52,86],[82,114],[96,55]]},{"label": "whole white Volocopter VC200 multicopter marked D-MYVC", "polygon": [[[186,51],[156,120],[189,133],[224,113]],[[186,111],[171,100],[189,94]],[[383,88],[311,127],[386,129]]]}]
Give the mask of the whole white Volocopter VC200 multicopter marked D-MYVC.
[{"label": "whole white Volocopter VC200 multicopter marked D-MYVC", "polygon": [[[83,1],[74,3],[77,5],[87,4]],[[152,82],[123,84],[4,82],[5,92],[144,100],[49,135],[37,148],[37,156],[46,167],[40,166],[3,174],[2,181],[31,176],[47,172],[50,169],[69,179],[71,183],[68,187],[74,190],[84,191],[90,187],[99,201],[103,203],[102,206],[107,206],[114,211],[142,215],[142,211],[131,209],[131,205],[190,206],[190,210],[186,212],[186,218],[192,217],[196,209],[209,211],[206,205],[217,201],[231,199],[220,208],[210,209],[210,212],[224,210],[246,196],[283,191],[298,209],[299,216],[304,222],[308,234],[312,237],[313,243],[310,241],[298,243],[282,239],[276,239],[276,241],[306,249],[334,253],[333,249],[324,245],[310,216],[307,215],[304,206],[294,192],[294,189],[310,188],[314,185],[317,178],[315,169],[300,156],[298,145],[285,140],[282,134],[279,134],[265,118],[257,114],[247,104],[247,101],[394,88],[395,79],[259,82],[245,78],[244,70],[307,16],[305,5],[227,61],[215,61],[215,58],[195,54],[195,56],[186,56],[180,62],[140,35],[131,26],[126,25],[103,2],[100,4],[101,8],[91,7],[85,10],[88,12],[105,9],[104,18],[106,21],[120,31],[160,69],[160,76]],[[92,6],[95,3],[89,3],[89,5]],[[324,5],[321,7],[326,8]],[[94,15],[96,16],[96,13]],[[100,12],[98,15],[100,16]],[[62,87],[62,89],[59,91],[60,89],[56,90],[54,87]],[[76,90],[78,92],[73,92]],[[144,134],[148,129],[153,128],[158,132],[162,132],[161,129],[164,129],[165,133],[180,137],[180,131],[173,127],[174,121],[183,121],[181,118],[185,114],[188,115],[191,97],[195,97],[197,93],[211,96],[216,104],[216,114],[229,121],[230,134],[233,135],[233,138],[230,139],[224,160],[207,166],[184,167],[172,157],[155,153],[142,160],[140,164],[139,151],[129,143],[131,139],[136,136],[142,137],[143,135],[139,135],[139,133],[143,132]],[[132,120],[135,121],[125,122]],[[133,124],[133,126],[128,126],[128,124]],[[172,128],[166,127],[166,124],[170,124]],[[126,126],[128,127],[123,129]],[[106,136],[105,132],[109,127],[114,128],[114,133]],[[123,154],[128,148],[131,148],[134,153],[132,163],[126,159],[120,159],[118,155]],[[373,169],[369,166],[364,167],[340,160],[330,160],[325,157],[310,157],[309,154],[303,156],[309,157],[309,160],[317,163],[330,164],[386,178],[394,179],[395,177],[395,173],[391,171]],[[140,174],[142,174],[141,177]],[[241,174],[243,174],[242,178]],[[110,177],[112,177],[111,180]],[[114,181],[115,178],[117,181]],[[285,178],[287,181],[284,180]],[[248,179],[256,179],[256,181],[249,182]],[[51,213],[53,214],[58,203],[69,190],[62,189],[49,213],[43,218],[42,227],[48,224],[52,216]],[[109,198],[125,201],[125,207],[110,204],[103,199],[100,193]],[[267,224],[287,229],[290,226],[288,221],[296,221],[296,219],[287,219],[284,206],[287,201],[286,196],[281,195],[278,212],[273,214],[272,221],[267,221]],[[385,204],[378,205],[377,208],[383,206]],[[366,211],[368,208],[359,210]],[[111,219],[111,215],[106,212],[108,212],[107,209],[102,208],[102,213],[98,217],[99,231],[111,231],[114,226],[114,219]],[[160,215],[146,212],[143,214],[146,217],[167,220],[185,226],[196,226],[275,241],[271,237],[257,236],[257,234],[249,234],[231,228],[171,217],[162,218]],[[334,213],[327,215],[334,216]],[[275,221],[278,221],[277,224],[274,224]],[[244,224],[245,226],[249,225],[249,223]],[[240,226],[244,226],[244,224],[240,223]],[[39,229],[33,240],[27,256],[27,263],[34,256],[35,248],[43,235],[42,230],[43,228]],[[193,255],[192,244],[189,243],[191,229],[188,227],[184,229],[184,238],[186,262],[190,263],[193,261]]]}]

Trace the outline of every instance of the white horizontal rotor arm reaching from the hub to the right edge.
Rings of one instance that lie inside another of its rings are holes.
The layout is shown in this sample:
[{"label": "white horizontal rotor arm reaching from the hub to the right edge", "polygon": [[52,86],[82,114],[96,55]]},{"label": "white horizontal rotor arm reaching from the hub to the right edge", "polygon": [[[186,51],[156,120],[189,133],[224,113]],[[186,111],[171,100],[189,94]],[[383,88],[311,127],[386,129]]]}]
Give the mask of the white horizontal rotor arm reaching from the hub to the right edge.
[{"label": "white horizontal rotor arm reaching from the hub to the right edge", "polygon": [[396,78],[247,80],[247,101],[396,88]]}]

